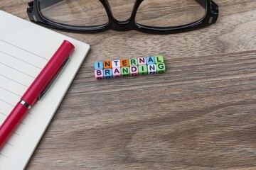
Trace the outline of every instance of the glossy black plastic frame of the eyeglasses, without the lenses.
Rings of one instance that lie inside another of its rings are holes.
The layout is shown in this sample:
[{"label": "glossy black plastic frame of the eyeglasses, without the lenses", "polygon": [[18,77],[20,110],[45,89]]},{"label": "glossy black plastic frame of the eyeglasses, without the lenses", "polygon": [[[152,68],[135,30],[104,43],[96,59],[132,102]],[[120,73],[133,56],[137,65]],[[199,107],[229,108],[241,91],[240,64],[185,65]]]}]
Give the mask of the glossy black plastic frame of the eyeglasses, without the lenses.
[{"label": "glossy black plastic frame of the eyeglasses, without the lenses", "polygon": [[[49,3],[57,3],[62,0],[51,0]],[[27,13],[30,21],[38,23],[39,25],[47,26],[50,28],[55,28],[58,30],[65,30],[74,33],[97,33],[105,30],[117,30],[117,31],[128,31],[128,30],[138,30],[143,33],[153,33],[153,34],[171,34],[171,33],[182,33],[186,31],[196,30],[198,28],[203,28],[209,26],[217,21],[218,18],[218,5],[215,4],[213,0],[195,0],[206,8],[206,13],[203,18],[199,21],[189,23],[183,26],[172,26],[172,27],[156,27],[156,26],[144,26],[135,21],[136,13],[139,5],[142,4],[144,0],[135,0],[134,7],[131,16],[126,21],[118,21],[112,15],[110,4],[108,0],[99,0],[104,6],[109,21],[105,24],[98,26],[69,26],[63,23],[57,23],[50,21],[49,19],[43,17],[39,9],[39,0],[33,0],[28,3]],[[49,6],[52,4],[49,4]]]}]

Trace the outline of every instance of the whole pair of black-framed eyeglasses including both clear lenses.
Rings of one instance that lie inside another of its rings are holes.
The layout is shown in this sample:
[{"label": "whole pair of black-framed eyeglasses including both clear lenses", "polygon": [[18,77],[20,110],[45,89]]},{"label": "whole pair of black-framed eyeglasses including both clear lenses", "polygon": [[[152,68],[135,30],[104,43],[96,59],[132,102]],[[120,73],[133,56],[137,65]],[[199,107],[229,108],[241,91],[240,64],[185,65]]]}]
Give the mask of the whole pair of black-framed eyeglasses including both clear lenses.
[{"label": "whole pair of black-framed eyeglasses including both clear lenses", "polygon": [[218,5],[212,0],[135,0],[126,21],[114,18],[108,0],[34,0],[28,6],[31,21],[80,33],[181,33],[209,26],[218,18]]}]

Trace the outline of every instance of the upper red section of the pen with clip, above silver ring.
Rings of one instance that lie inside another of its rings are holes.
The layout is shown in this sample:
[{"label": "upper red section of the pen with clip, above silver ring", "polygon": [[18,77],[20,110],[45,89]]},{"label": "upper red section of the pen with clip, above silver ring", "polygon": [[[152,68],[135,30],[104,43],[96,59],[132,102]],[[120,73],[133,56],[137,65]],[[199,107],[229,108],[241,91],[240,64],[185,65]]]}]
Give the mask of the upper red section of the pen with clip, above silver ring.
[{"label": "upper red section of the pen with clip, above silver ring", "polygon": [[33,106],[37,101],[38,96],[46,89],[50,81],[53,80],[61,69],[63,62],[65,62],[68,56],[73,52],[74,48],[73,44],[64,40],[58,50],[54,53],[53,57],[51,57],[46,66],[43,67],[31,86],[28,87],[25,94],[21,97],[21,100],[26,101],[28,105]]}]

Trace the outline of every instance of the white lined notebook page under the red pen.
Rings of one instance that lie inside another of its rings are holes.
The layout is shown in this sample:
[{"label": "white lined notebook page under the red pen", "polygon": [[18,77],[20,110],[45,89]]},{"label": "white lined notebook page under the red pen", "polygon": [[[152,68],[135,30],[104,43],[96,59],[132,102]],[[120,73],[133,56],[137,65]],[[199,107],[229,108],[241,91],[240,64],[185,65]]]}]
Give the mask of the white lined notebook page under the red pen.
[{"label": "white lined notebook page under the red pen", "polygon": [[70,62],[18,125],[0,151],[0,169],[24,169],[90,45],[0,11],[0,125],[50,57],[68,40],[75,46]]}]

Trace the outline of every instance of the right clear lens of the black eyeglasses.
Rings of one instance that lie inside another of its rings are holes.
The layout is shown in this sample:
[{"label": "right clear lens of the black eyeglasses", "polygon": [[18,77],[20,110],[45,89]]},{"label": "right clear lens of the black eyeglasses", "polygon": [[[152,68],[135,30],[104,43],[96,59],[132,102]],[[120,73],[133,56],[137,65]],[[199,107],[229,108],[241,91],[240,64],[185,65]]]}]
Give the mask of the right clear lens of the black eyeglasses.
[{"label": "right clear lens of the black eyeglasses", "polygon": [[195,0],[146,0],[139,6],[135,21],[145,26],[182,26],[200,20],[205,13]]}]

